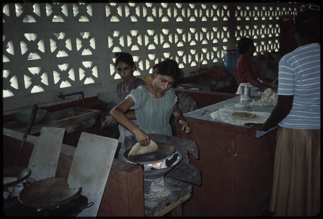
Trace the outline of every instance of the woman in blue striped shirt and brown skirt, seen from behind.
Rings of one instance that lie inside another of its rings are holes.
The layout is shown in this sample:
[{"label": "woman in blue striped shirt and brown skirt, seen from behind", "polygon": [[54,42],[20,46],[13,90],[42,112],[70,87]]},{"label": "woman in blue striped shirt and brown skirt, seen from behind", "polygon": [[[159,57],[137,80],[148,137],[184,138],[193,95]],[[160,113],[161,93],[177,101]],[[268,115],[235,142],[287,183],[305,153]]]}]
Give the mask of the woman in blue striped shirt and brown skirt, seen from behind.
[{"label": "woman in blue striped shirt and brown skirt, seen from behind", "polygon": [[320,7],[294,13],[298,48],[279,61],[278,100],[263,124],[277,126],[273,188],[275,216],[316,216],[320,212]]}]

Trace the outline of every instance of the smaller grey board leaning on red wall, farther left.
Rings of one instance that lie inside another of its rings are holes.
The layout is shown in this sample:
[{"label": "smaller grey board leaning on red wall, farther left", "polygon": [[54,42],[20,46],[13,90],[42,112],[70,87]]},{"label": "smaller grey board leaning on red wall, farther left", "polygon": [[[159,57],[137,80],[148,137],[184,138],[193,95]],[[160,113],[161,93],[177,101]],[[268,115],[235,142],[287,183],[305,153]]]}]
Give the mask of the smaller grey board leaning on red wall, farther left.
[{"label": "smaller grey board leaning on red wall, farther left", "polygon": [[63,128],[42,128],[28,164],[28,168],[31,170],[31,178],[38,181],[55,177],[64,133],[65,129]]}]

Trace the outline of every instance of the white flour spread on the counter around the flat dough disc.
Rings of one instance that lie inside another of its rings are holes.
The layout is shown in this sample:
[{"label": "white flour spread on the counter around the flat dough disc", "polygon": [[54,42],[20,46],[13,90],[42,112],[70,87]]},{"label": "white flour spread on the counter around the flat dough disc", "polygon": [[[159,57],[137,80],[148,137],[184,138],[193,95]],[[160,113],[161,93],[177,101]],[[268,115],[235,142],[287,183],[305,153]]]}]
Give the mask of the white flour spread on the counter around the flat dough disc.
[{"label": "white flour spread on the counter around the flat dough disc", "polygon": [[[256,115],[253,119],[234,119],[231,117],[232,113],[236,112],[245,112],[245,113],[253,113]],[[234,109],[231,107],[221,108],[218,111],[211,113],[212,119],[217,119],[220,122],[230,123],[233,125],[244,126],[244,123],[254,122],[254,123],[264,123],[266,119],[269,117],[270,113],[267,112],[249,112],[244,111],[243,108]]]}]

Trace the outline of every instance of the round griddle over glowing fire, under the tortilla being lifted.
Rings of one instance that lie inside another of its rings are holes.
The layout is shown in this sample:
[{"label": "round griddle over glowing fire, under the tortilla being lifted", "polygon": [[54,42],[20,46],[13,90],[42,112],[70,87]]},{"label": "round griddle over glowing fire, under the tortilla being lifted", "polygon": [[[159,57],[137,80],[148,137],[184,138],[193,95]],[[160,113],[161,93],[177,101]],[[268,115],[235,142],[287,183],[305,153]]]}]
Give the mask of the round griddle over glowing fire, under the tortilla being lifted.
[{"label": "round griddle over glowing fire, under the tortilla being lifted", "polygon": [[131,151],[131,148],[130,148],[124,153],[124,157],[130,162],[149,164],[149,163],[156,163],[159,161],[163,161],[175,153],[175,148],[170,144],[161,143],[161,142],[156,142],[156,144],[158,146],[158,149],[154,152],[133,155],[129,157],[128,155],[129,155],[129,152]]}]

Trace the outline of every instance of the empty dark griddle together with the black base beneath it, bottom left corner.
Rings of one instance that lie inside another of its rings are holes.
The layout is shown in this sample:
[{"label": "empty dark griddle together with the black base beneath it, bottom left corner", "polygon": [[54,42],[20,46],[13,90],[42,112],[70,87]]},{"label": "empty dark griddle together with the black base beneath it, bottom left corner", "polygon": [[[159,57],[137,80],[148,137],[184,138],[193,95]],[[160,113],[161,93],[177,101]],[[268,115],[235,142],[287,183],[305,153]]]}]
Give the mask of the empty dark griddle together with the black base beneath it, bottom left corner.
[{"label": "empty dark griddle together with the black base beneath it, bottom left corner", "polygon": [[16,202],[5,200],[4,212],[14,217],[76,216],[94,204],[88,203],[88,198],[80,194],[81,191],[82,187],[68,188],[63,177],[42,179],[24,187],[15,199]]}]

